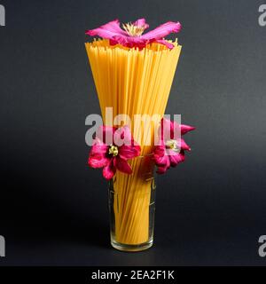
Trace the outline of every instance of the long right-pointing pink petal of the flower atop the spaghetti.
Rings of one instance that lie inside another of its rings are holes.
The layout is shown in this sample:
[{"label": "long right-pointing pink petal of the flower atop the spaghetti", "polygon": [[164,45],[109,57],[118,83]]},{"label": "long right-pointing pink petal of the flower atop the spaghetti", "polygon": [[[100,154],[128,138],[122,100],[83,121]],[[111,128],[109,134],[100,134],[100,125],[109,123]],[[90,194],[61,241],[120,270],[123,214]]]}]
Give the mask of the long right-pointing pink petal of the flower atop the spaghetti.
[{"label": "long right-pointing pink petal of the flower atop the spaghetti", "polygon": [[181,30],[181,24],[179,21],[173,22],[168,21],[165,24],[160,25],[158,28],[154,28],[150,32],[142,36],[144,39],[153,40],[153,39],[162,39],[165,36],[168,36],[171,33],[178,33]]}]

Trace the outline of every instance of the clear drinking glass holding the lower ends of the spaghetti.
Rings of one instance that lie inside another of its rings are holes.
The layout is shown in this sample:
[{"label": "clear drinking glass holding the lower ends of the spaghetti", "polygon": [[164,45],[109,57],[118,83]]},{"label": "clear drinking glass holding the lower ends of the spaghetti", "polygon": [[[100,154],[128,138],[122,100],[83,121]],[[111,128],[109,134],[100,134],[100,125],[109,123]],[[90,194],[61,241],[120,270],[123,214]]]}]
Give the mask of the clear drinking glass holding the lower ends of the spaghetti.
[{"label": "clear drinking glass holding the lower ends of the spaghetti", "polygon": [[156,193],[153,162],[147,156],[135,160],[131,164],[132,174],[117,172],[108,188],[111,244],[123,251],[153,246]]}]

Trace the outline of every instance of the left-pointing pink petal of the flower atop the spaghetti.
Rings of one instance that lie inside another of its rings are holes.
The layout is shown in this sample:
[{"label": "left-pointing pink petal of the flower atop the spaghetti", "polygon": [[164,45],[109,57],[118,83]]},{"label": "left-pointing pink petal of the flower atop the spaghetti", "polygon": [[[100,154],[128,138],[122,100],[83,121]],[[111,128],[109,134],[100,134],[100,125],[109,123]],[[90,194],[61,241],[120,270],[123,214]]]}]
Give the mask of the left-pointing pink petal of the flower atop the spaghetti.
[{"label": "left-pointing pink petal of the flower atop the spaghetti", "polygon": [[112,20],[99,28],[87,30],[85,34],[106,39],[112,39],[113,36],[127,36],[127,33],[120,28],[119,20]]}]

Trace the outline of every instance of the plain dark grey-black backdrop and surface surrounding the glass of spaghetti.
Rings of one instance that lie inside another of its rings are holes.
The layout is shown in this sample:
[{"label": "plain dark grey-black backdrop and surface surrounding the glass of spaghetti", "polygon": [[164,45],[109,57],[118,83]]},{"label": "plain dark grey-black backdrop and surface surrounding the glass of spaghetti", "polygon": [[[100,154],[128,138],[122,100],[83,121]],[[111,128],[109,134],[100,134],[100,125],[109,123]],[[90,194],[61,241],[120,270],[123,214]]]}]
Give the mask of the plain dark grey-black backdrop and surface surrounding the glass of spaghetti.
[{"label": "plain dark grey-black backdrop and surface surrounding the glass of spaghetti", "polygon": [[[1,1],[2,264],[266,264],[266,27],[263,1]],[[107,185],[86,166],[99,113],[84,30],[145,16],[180,20],[167,114],[197,130],[187,162],[158,179],[155,244],[109,246]]]}]

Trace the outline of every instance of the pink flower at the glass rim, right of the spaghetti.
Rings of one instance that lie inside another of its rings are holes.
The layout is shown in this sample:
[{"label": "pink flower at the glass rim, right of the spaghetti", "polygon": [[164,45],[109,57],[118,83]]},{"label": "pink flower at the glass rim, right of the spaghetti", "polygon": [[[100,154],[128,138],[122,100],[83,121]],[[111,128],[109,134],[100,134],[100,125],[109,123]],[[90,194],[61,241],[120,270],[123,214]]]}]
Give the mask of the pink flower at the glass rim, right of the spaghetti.
[{"label": "pink flower at the glass rim, right of the spaghetti", "polygon": [[[157,165],[157,173],[163,174],[170,167],[176,167],[180,162],[184,162],[184,151],[191,151],[182,135],[195,128],[189,125],[170,122],[162,118],[160,122],[160,145],[154,147],[153,157]],[[181,137],[178,137],[178,134]],[[165,136],[168,136],[166,138]]]}]

